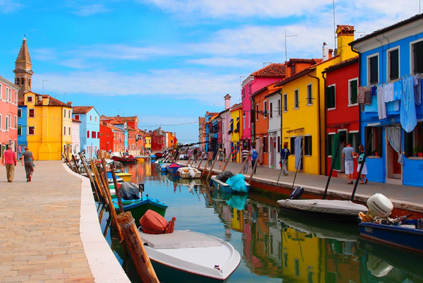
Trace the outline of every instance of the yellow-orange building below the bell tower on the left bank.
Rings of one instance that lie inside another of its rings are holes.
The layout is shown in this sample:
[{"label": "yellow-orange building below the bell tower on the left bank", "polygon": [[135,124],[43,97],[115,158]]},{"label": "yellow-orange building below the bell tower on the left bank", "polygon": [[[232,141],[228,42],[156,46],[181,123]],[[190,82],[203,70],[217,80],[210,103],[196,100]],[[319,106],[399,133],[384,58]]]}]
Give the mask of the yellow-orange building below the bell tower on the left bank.
[{"label": "yellow-orange building below the bell tower on the left bank", "polygon": [[59,160],[72,144],[72,105],[49,95],[27,92],[27,145],[38,160]]}]

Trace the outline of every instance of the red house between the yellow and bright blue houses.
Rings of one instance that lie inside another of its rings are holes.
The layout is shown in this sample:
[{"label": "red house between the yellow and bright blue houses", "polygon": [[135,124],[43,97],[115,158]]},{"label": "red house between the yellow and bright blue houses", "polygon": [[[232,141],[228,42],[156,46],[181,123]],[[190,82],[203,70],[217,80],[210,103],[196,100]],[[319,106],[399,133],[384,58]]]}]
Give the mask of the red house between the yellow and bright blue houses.
[{"label": "red house between the yellow and bright blue houses", "polygon": [[[360,106],[357,103],[358,56],[326,68],[326,175],[331,171],[332,157],[339,149],[332,176],[345,172],[343,147],[351,142],[355,152],[360,141]],[[357,162],[354,161],[354,178]]]}]

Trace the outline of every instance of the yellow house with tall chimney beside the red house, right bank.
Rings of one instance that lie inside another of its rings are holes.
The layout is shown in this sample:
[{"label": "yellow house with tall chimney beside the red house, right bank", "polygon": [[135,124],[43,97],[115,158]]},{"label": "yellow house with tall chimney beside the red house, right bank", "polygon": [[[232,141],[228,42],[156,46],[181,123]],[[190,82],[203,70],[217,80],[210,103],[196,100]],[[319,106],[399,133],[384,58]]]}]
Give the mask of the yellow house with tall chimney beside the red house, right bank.
[{"label": "yellow house with tall chimney beside the red house, right bank", "polygon": [[[324,46],[324,59],[313,59],[309,68],[295,73],[277,83],[282,86],[282,144],[288,142],[291,157],[288,169],[295,170],[295,139],[302,147],[300,169],[308,174],[325,172],[325,81],[322,71],[333,64],[357,56],[348,43],[354,40],[354,27],[338,25],[338,54],[331,57]],[[325,52],[327,56],[325,57]],[[294,70],[294,71],[293,71]]]}]

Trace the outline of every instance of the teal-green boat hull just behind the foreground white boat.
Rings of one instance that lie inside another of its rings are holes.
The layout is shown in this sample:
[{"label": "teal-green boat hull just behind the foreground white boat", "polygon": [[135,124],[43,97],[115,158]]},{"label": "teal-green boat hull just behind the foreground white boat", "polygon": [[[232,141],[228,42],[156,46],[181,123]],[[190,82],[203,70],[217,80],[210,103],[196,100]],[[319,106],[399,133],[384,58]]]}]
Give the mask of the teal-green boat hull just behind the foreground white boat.
[{"label": "teal-green boat hull just behind the foreground white boat", "polygon": [[[159,213],[159,215],[164,217],[168,207],[168,205],[160,203],[158,200],[153,198],[142,198],[140,200],[122,200],[122,204],[124,211],[130,211],[135,219],[135,223],[138,223],[142,215],[144,215],[147,210],[154,210],[155,212]],[[119,212],[117,198],[114,198],[113,206],[116,212]]]}]

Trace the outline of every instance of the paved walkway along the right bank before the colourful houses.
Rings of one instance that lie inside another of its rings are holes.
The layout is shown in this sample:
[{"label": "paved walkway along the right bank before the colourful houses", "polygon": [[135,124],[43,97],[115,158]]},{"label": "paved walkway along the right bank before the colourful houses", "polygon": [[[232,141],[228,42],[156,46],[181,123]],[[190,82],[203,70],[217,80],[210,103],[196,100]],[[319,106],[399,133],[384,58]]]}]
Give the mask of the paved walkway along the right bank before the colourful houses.
[{"label": "paved walkway along the right bank before the colourful houses", "polygon": [[[187,160],[179,160],[178,163],[185,165],[187,164]],[[206,162],[204,160],[200,169],[204,169],[205,163]],[[197,167],[198,164],[199,162],[195,163],[193,166]],[[222,167],[224,167],[224,165],[225,164],[223,162]],[[208,169],[210,167],[211,166],[207,166]],[[234,174],[238,174],[241,167],[241,163],[228,162],[226,171],[232,171]],[[216,162],[213,167],[214,174],[221,172],[221,169],[218,168],[219,162]],[[250,179],[251,170],[252,168],[250,162],[248,172],[247,174],[244,174],[247,181]],[[259,164],[257,166],[256,174],[254,174],[252,177],[252,186],[255,186],[257,182],[259,186],[266,186],[267,191],[274,191],[280,172],[281,171],[278,169],[270,169],[269,167],[264,167]],[[285,188],[292,188],[294,176],[295,171],[290,171],[288,176],[283,176],[283,174],[281,174],[278,187],[282,186]],[[297,173],[294,187],[296,188],[302,186],[306,192],[323,195],[327,180],[328,176]],[[332,177],[329,183],[328,197],[331,196],[333,198],[349,200],[353,189],[354,185],[348,185],[347,179]],[[374,193],[382,193],[391,200],[394,207],[400,210],[411,210],[413,212],[419,212],[419,214],[423,214],[423,188],[421,187],[392,185],[389,183],[377,183],[369,181],[367,184],[362,185],[359,183],[357,185],[354,200],[365,203],[367,198],[374,195]]]}]

